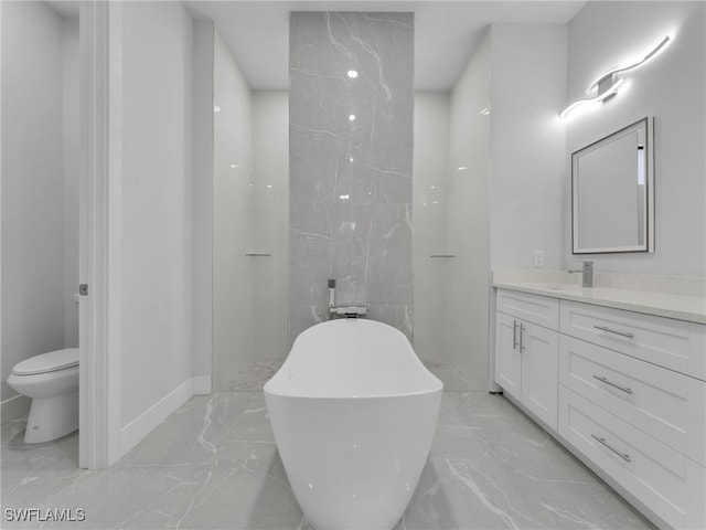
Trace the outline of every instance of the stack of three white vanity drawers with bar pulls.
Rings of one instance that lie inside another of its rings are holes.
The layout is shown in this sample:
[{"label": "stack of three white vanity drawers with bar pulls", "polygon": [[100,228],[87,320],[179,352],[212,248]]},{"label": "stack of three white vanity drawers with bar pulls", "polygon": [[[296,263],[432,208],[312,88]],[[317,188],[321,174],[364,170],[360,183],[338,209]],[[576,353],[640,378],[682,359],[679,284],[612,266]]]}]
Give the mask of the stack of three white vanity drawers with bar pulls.
[{"label": "stack of three white vanity drawers with bar pulls", "polygon": [[671,528],[706,528],[706,326],[560,303],[558,434]]}]

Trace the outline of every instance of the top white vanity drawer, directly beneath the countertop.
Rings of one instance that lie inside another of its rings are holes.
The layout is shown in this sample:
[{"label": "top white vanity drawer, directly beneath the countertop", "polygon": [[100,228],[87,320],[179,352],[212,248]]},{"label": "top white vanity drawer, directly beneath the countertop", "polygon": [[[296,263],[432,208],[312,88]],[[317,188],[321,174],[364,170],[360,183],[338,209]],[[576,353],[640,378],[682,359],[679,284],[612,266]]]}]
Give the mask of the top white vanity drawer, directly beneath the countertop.
[{"label": "top white vanity drawer, directly beneath the countertop", "polygon": [[561,300],[560,331],[706,380],[706,326]]}]

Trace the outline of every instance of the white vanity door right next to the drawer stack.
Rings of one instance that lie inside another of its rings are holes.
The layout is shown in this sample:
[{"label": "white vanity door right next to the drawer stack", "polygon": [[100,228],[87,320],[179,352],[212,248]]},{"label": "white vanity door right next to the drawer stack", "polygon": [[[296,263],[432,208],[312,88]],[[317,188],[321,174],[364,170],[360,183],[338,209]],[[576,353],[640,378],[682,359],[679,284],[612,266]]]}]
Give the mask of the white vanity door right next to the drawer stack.
[{"label": "white vanity door right next to the drawer stack", "polygon": [[522,322],[522,403],[556,431],[559,338],[554,330]]}]

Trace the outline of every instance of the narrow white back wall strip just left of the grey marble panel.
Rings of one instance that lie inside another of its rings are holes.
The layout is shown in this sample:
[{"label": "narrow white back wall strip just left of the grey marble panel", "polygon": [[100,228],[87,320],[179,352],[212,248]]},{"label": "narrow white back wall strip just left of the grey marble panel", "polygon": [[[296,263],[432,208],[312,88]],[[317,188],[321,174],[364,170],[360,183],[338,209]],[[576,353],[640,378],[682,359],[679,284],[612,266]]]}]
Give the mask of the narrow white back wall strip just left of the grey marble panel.
[{"label": "narrow white back wall strip just left of the grey marble panel", "polygon": [[253,360],[285,359],[289,338],[289,93],[253,93]]}]

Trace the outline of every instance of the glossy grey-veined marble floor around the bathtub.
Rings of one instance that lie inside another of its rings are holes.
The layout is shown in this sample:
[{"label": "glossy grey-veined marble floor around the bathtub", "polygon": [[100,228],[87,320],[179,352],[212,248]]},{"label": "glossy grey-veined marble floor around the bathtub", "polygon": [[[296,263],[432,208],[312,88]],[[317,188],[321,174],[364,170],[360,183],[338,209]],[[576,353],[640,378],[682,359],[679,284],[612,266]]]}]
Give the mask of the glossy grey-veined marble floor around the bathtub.
[{"label": "glossy grey-veined marble floor around the bathtub", "polygon": [[[113,468],[77,469],[77,436],[22,443],[2,425],[2,528],[310,530],[261,392],[192,398]],[[85,521],[8,520],[8,509]],[[429,459],[395,530],[651,528],[499,395],[445,392]]]}]

